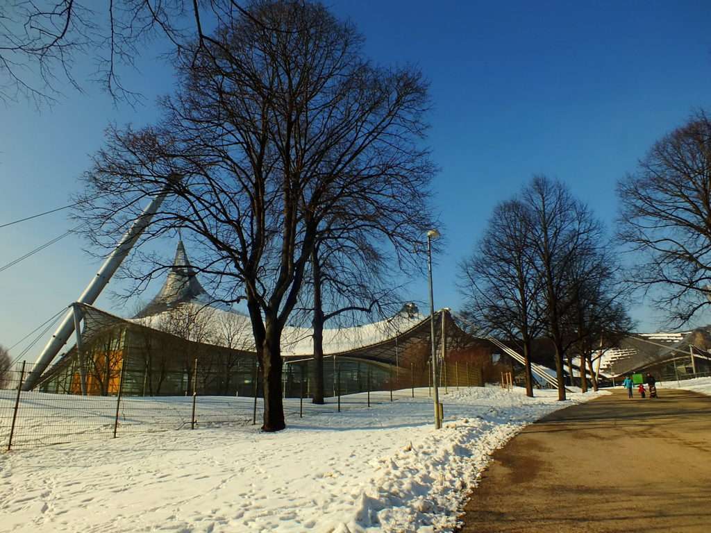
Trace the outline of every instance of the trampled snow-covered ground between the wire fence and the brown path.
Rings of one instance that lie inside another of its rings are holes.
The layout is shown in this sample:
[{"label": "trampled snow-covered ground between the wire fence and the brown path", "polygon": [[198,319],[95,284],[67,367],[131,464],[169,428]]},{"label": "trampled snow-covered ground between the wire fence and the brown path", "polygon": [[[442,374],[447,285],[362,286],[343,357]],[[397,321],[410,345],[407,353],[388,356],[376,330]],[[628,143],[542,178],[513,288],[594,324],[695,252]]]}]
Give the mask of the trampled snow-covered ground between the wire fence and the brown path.
[{"label": "trampled snow-covered ground between the wire fence and the brown path", "polygon": [[278,434],[213,426],[20,448],[0,456],[0,530],[449,531],[496,448],[595,397],[536,394],[450,389],[441,431],[427,397],[368,409],[355,395]]}]

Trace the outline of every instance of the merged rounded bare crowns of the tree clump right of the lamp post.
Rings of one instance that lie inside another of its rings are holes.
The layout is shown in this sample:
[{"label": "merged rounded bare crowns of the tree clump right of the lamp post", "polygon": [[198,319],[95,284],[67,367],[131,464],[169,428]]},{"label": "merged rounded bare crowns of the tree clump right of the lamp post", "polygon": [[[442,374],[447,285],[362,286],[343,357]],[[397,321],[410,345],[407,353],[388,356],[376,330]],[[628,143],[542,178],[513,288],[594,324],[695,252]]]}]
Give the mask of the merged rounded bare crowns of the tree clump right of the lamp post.
[{"label": "merged rounded bare crowns of the tree clump right of the lamp post", "polygon": [[536,335],[550,339],[565,399],[571,348],[589,360],[594,340],[629,327],[618,271],[589,209],[563,183],[535,176],[494,210],[473,256],[460,265],[460,286],[466,312],[487,333],[520,341],[525,357]]}]

